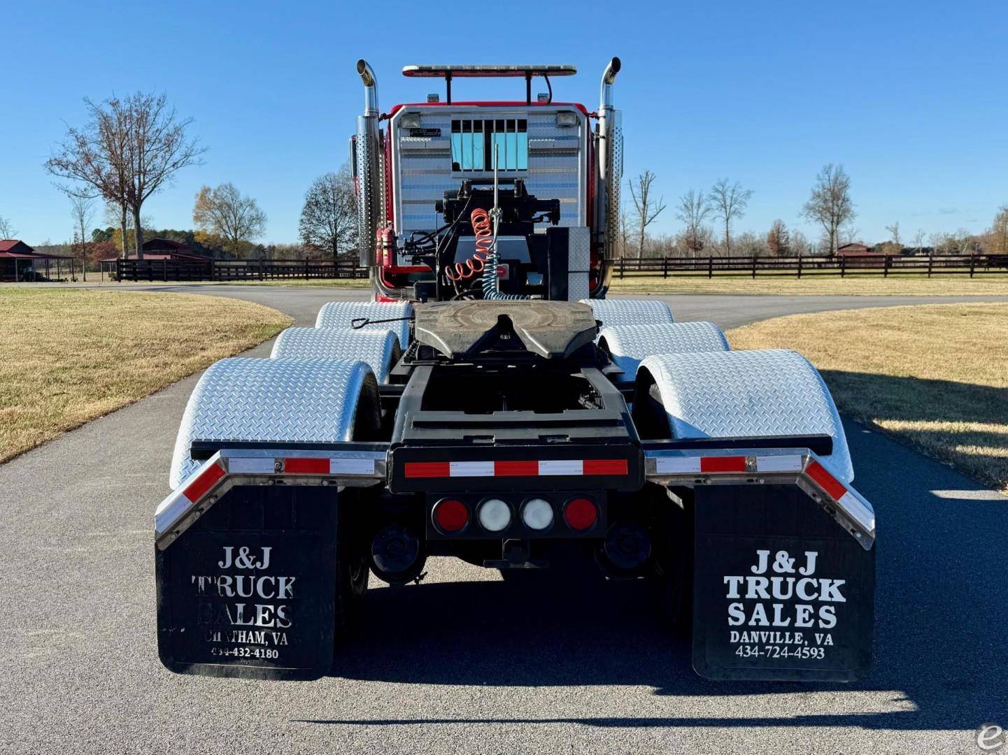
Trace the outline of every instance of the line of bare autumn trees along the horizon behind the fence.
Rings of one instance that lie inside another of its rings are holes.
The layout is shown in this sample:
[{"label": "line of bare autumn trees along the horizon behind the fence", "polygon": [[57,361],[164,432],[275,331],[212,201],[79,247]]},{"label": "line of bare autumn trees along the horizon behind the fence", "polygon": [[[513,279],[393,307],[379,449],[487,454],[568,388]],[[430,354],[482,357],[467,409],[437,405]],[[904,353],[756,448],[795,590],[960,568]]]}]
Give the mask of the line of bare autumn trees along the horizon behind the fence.
[{"label": "line of bare autumn trees along the horizon behind the fence", "polygon": [[[308,186],[298,222],[298,243],[258,243],[266,231],[266,214],[255,199],[229,181],[200,188],[194,199],[192,230],[145,233],[144,229],[153,226],[144,214],[147,201],[170,185],[181,169],[204,164],[207,148],[191,134],[193,119],[178,116],[163,94],[137,92],[98,103],[86,98],[85,106],[86,123],[69,127],[44,163],[57,188],[70,199],[74,238],[64,245],[46,242],[41,248],[70,251],[82,262],[126,256],[130,250],[142,258],[145,237],[159,236],[180,241],[196,253],[225,258],[353,257],[356,198],[347,165],[318,176]],[[679,230],[655,235],[649,229],[668,209],[656,192],[656,178],[647,169],[628,180],[629,202],[624,202],[620,213],[615,245],[618,256],[832,254],[844,244],[861,241],[861,231],[854,225],[857,213],[851,178],[843,165],[825,165],[799,209],[798,217],[821,231],[814,240],[789,229],[780,219],[765,232],[736,233],[753,190],[729,178],[682,194],[672,208]],[[104,205],[105,225],[93,229],[96,204]],[[887,231],[889,238],[876,244],[876,251],[1008,253],[1008,205],[998,210],[982,234],[960,229],[925,237],[917,231],[904,238],[898,223]],[[13,225],[0,217],[0,238],[15,235]]]}]

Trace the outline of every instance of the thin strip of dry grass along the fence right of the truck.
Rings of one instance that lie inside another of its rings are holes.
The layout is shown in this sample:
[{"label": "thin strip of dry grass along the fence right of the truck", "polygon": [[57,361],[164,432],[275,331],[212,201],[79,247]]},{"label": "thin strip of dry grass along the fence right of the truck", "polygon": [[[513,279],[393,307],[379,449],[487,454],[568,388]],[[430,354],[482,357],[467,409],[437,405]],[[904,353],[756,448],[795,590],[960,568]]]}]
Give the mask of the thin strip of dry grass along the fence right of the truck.
[{"label": "thin strip of dry grass along the fence right of the truck", "polygon": [[714,278],[661,275],[613,278],[613,293],[772,293],[852,296],[1008,296],[1008,274],[771,277],[721,275]]}]

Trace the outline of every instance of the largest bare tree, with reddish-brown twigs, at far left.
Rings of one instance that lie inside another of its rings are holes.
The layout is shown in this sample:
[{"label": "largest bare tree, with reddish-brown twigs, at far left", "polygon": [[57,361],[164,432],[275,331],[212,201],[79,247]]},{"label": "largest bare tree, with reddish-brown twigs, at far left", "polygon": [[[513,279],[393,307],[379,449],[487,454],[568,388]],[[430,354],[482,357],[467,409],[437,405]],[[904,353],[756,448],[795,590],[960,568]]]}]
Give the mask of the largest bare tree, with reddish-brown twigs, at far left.
[{"label": "largest bare tree, with reddish-brown twigs, at far left", "polygon": [[123,239],[126,215],[131,213],[134,251],[140,259],[143,203],[168,185],[177,170],[199,164],[205,149],[198,139],[186,135],[193,119],[179,120],[164,95],[137,92],[98,104],[85,99],[85,104],[91,120],[83,128],[68,129],[67,138],[45,167],[53,175],[83,182],[94,195],[115,203],[121,212]]}]

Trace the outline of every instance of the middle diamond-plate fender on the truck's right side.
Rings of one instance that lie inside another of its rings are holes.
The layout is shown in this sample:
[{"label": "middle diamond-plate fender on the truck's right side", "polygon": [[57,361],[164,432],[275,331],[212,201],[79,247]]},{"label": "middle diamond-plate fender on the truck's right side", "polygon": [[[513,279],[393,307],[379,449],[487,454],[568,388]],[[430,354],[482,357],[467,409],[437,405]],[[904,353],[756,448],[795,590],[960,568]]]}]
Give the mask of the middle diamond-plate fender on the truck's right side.
[{"label": "middle diamond-plate fender on the truck's right side", "polygon": [[628,378],[637,374],[637,365],[655,354],[729,351],[725,334],[714,323],[659,323],[604,328],[599,334],[613,361]]}]

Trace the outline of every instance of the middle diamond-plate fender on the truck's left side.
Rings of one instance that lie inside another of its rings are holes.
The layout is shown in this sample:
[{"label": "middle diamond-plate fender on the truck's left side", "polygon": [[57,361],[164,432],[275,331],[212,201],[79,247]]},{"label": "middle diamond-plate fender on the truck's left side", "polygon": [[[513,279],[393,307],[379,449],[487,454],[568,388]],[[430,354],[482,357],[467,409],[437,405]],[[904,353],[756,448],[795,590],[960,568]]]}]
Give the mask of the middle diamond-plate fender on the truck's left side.
[{"label": "middle diamond-plate fender on the truck's left side", "polygon": [[379,383],[388,380],[399,351],[392,331],[288,328],[276,337],[270,359],[350,359],[367,362]]}]

